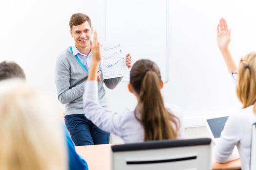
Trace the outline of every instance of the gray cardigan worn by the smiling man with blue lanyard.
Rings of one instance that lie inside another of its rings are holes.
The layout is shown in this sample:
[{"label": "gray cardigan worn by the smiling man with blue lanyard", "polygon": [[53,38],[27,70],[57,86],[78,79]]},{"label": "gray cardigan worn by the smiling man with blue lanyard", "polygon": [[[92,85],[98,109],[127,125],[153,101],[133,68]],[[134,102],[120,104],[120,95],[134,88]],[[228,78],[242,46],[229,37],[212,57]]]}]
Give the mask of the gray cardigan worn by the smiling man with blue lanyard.
[{"label": "gray cardigan worn by the smiling man with blue lanyard", "polygon": [[[101,65],[99,66],[99,69]],[[72,52],[67,48],[58,57],[55,66],[55,84],[57,88],[58,99],[65,104],[65,115],[84,114],[83,111],[83,94],[84,83],[88,74],[79,64]],[[98,82],[99,103],[107,106],[105,89],[103,82],[109,89],[115,88],[123,77],[103,80]]]}]

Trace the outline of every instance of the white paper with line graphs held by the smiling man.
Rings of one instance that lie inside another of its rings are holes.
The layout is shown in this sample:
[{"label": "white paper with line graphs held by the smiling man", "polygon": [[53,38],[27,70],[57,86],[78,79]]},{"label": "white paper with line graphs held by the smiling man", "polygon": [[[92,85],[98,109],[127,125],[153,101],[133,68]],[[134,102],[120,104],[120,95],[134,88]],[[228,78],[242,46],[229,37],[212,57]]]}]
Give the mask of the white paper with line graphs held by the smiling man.
[{"label": "white paper with line graphs held by the smiling man", "polygon": [[103,78],[110,79],[115,77],[123,77],[126,73],[126,57],[122,54],[121,45],[116,43],[101,44],[102,61],[101,67]]}]

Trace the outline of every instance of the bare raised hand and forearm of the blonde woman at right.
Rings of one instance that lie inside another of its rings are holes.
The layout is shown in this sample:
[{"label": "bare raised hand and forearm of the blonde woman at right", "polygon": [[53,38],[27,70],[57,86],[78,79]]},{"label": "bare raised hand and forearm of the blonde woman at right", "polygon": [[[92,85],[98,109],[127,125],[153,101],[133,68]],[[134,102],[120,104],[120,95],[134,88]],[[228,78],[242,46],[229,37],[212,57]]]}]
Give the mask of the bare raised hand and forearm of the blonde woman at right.
[{"label": "bare raised hand and forearm of the blonde woman at right", "polygon": [[237,67],[234,59],[229,51],[229,43],[231,41],[231,30],[228,28],[225,19],[221,18],[217,26],[217,45],[225,60],[229,73],[236,72]]}]

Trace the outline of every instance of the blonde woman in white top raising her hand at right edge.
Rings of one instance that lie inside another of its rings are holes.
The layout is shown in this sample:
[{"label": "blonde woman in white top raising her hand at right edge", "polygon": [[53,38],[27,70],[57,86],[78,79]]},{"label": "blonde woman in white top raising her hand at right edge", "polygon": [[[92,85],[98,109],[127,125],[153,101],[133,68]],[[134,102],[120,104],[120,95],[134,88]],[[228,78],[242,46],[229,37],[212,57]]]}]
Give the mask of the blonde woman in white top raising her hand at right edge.
[{"label": "blonde woman in white top raising her hand at right edge", "polygon": [[[235,65],[229,43],[231,32],[225,19],[221,18],[217,27],[217,44],[227,68],[236,82],[236,94],[243,107],[232,114],[215,146],[218,162],[227,162],[237,146],[242,170],[250,169],[252,124],[256,122],[256,52],[250,52]],[[236,76],[237,75],[237,76]]]}]

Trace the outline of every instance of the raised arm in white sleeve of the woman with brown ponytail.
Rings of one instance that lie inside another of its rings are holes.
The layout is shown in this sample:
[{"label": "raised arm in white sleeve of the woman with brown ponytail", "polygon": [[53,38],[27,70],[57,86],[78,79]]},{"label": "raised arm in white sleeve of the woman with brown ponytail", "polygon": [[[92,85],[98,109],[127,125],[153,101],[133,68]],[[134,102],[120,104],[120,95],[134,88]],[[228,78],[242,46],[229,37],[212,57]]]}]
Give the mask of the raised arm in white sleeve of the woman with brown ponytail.
[{"label": "raised arm in white sleeve of the woman with brown ponytail", "polygon": [[83,95],[85,117],[91,120],[100,129],[122,136],[119,122],[122,116],[102,107],[98,102],[97,72],[101,61],[100,43],[97,41],[97,32],[94,33],[94,40],[91,45],[92,62],[88,79],[85,83]]}]

